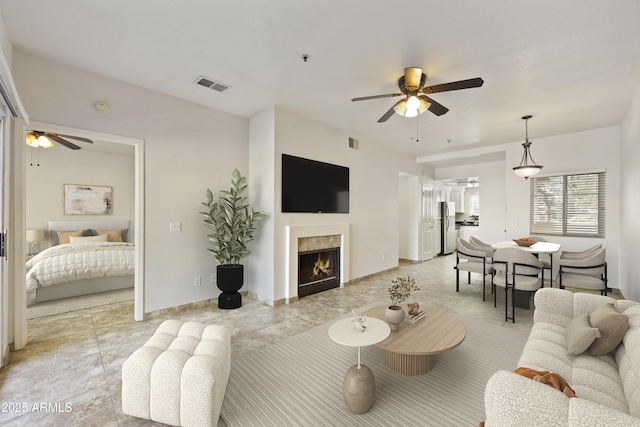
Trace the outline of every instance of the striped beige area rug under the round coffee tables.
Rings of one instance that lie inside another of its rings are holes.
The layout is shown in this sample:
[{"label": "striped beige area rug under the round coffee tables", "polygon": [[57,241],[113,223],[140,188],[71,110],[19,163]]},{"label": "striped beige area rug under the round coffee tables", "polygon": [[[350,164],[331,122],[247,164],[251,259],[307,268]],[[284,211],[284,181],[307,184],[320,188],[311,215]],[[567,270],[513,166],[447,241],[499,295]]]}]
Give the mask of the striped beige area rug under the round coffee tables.
[{"label": "striped beige area rug under the round coffee tables", "polygon": [[333,342],[329,322],[234,361],[222,419],[229,427],[477,426],[485,418],[487,381],[499,369],[516,368],[528,331],[458,317],[464,342],[436,356],[425,375],[396,374],[384,365],[382,350],[362,348],[362,363],[376,381],[365,414],[345,407],[342,384],[357,350]]}]

